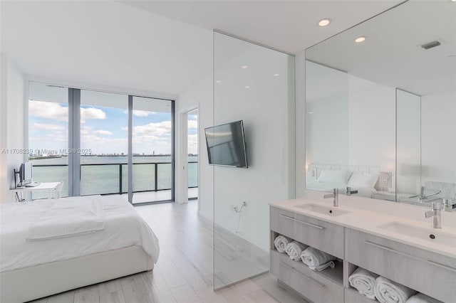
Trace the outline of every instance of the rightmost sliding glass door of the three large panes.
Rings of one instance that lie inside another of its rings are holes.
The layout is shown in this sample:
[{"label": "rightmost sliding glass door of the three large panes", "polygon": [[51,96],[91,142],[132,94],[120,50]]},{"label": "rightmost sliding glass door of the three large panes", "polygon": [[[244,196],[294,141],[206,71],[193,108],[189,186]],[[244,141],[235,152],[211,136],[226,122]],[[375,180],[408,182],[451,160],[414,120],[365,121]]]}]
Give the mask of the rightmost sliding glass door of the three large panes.
[{"label": "rightmost sliding glass door of the three large panes", "polygon": [[174,104],[133,97],[133,204],[174,200]]}]

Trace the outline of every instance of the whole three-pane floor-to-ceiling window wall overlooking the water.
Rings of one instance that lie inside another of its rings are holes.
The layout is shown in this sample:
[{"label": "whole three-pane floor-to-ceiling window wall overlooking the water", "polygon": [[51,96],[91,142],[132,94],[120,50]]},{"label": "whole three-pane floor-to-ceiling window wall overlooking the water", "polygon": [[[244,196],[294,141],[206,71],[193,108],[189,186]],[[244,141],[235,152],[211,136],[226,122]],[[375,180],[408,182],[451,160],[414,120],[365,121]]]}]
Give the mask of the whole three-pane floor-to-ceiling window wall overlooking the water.
[{"label": "whole three-pane floor-to-ceiling window wall overlooking the water", "polygon": [[174,200],[172,100],[35,82],[29,96],[34,181],[63,181],[63,196]]}]

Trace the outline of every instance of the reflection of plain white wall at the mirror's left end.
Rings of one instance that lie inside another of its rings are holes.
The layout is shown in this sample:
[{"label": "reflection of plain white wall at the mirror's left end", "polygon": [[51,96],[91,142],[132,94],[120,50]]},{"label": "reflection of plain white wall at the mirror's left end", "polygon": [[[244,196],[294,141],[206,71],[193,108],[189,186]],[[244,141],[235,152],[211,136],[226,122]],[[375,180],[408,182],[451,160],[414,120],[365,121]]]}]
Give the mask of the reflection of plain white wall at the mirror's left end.
[{"label": "reflection of plain white wall at the mirror's left end", "polygon": [[[348,166],[348,75],[306,61],[306,185],[316,191],[345,190]],[[337,152],[334,152],[337,149]],[[323,174],[322,172],[325,171]],[[322,181],[324,179],[324,182]]]}]

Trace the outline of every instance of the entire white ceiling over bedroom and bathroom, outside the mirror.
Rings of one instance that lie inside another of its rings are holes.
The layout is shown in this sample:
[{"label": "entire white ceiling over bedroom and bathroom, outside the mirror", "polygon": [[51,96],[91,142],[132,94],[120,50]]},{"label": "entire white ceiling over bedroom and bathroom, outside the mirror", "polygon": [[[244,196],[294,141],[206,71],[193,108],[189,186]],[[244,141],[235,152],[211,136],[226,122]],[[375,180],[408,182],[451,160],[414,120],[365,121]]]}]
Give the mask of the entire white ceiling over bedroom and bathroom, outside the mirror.
[{"label": "entire white ceiling over bedroom and bathroom, outside the mirror", "polygon": [[179,95],[212,74],[213,28],[297,53],[399,2],[1,1],[1,52],[26,74]]}]

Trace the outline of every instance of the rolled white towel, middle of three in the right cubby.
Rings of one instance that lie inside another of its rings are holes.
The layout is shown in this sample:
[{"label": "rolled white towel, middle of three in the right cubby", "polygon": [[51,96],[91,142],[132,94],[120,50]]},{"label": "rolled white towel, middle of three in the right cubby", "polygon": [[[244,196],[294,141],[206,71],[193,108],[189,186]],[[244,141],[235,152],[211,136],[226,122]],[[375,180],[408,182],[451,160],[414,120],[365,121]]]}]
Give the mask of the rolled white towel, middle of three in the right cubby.
[{"label": "rolled white towel, middle of three in the right cubby", "polygon": [[380,303],[405,303],[413,294],[416,294],[415,290],[385,277],[378,277],[375,280],[375,298]]}]

